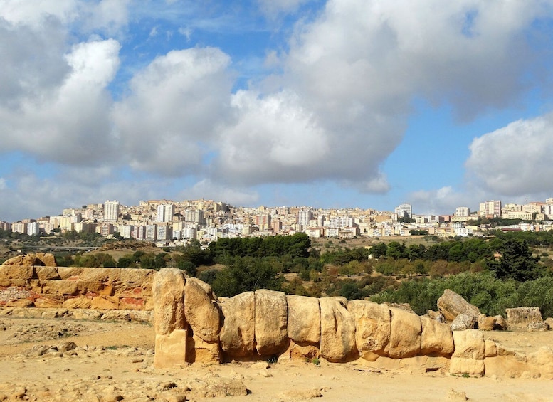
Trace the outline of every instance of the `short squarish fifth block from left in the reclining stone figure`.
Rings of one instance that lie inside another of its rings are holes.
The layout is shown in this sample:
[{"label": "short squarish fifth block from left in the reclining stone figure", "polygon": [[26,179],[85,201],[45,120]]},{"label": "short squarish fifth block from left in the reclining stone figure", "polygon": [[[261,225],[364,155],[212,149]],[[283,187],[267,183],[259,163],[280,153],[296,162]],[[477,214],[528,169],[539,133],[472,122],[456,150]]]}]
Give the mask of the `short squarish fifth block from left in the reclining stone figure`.
[{"label": "short squarish fifth block from left in the reclining stone figure", "polygon": [[315,297],[288,295],[288,338],[295,342],[319,344],[321,340],[321,314]]}]

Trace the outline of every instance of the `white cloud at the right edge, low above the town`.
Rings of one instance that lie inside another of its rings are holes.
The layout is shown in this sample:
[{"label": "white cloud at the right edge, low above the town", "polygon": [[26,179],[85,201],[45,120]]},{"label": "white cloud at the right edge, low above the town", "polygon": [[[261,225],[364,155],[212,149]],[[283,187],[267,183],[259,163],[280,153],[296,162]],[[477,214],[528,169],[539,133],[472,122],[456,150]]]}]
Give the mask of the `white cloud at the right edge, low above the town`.
[{"label": "white cloud at the right edge, low above the town", "polygon": [[488,191],[505,196],[553,187],[553,113],[517,120],[475,138],[465,166]]}]

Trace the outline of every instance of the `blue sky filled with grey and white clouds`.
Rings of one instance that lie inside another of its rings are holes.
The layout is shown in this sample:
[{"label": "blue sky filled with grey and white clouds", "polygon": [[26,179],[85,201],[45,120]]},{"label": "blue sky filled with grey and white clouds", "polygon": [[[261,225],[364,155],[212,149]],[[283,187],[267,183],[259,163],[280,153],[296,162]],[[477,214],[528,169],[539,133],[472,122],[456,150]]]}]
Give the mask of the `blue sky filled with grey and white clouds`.
[{"label": "blue sky filled with grey and white clouds", "polygon": [[0,220],[553,196],[549,0],[0,0]]}]

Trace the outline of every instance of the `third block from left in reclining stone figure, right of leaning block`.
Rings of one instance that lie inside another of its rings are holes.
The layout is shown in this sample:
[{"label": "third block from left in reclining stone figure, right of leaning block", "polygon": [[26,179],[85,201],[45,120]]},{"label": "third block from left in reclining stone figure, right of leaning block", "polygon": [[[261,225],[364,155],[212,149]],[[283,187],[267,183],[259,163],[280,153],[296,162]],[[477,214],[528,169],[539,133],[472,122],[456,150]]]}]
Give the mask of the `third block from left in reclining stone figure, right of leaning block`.
[{"label": "third block from left in reclining stone figure, right of leaning block", "polygon": [[244,292],[221,303],[223,327],[219,334],[221,349],[231,359],[253,357],[256,297]]}]

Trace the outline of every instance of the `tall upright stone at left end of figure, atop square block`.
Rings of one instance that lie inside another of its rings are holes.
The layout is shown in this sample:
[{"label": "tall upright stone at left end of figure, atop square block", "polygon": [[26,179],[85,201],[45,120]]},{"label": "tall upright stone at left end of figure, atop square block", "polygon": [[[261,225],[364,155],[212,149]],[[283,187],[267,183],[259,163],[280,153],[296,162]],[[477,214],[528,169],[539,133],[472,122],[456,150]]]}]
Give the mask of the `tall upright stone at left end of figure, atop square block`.
[{"label": "tall upright stone at left end of figure, atop square block", "polygon": [[154,278],[154,327],[156,334],[167,335],[186,329],[184,318],[184,274],[177,268],[162,268]]}]

